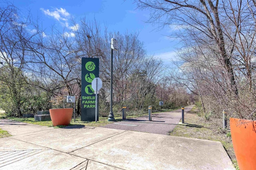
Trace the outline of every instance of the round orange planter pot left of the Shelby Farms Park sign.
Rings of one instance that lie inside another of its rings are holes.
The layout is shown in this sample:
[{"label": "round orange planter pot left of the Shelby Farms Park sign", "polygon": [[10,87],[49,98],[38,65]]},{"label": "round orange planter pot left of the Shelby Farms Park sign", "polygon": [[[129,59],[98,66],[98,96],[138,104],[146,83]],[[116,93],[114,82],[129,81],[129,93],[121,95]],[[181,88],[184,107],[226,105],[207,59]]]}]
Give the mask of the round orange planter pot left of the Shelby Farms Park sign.
[{"label": "round orange planter pot left of the Shelby Farms Park sign", "polygon": [[69,125],[72,115],[73,108],[50,109],[50,117],[54,126]]}]

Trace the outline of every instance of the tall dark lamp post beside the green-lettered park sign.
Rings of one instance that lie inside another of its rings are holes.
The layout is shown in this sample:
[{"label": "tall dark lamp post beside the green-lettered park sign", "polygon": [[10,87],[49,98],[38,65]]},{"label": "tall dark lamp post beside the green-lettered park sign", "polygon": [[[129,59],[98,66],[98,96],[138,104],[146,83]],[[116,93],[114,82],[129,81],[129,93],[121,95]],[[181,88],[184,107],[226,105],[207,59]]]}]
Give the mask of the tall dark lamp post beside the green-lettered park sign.
[{"label": "tall dark lamp post beside the green-lettered park sign", "polygon": [[108,115],[108,121],[115,121],[114,113],[113,113],[113,50],[117,50],[116,40],[114,38],[111,39],[110,112],[109,112],[109,115]]}]

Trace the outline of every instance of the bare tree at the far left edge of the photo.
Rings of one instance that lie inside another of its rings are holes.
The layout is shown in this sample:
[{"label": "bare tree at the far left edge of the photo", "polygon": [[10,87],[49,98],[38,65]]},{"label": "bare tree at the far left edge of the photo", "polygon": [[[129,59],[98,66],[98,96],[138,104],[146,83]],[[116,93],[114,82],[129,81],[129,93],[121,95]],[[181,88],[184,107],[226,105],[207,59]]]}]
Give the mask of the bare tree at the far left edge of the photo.
[{"label": "bare tree at the far left edge of the photo", "polygon": [[24,70],[25,64],[30,62],[26,57],[29,53],[27,45],[36,33],[27,29],[31,25],[29,16],[23,21],[15,6],[8,2],[0,4],[0,81],[9,89],[12,113],[21,116],[24,103],[22,96],[29,74]]}]

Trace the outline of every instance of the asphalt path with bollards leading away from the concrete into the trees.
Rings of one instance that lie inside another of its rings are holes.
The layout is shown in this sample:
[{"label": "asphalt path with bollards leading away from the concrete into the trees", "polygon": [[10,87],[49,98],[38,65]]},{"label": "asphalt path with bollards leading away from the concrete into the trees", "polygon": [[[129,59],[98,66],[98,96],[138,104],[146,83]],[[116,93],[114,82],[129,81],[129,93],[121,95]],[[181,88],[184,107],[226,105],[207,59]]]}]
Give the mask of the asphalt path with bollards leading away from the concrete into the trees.
[{"label": "asphalt path with bollards leading away from the concrete into the trees", "polygon": [[[194,105],[185,107],[184,113],[190,111],[193,106]],[[152,121],[148,121],[148,116],[143,116],[134,119],[126,119],[103,127],[167,135],[169,131],[172,131],[176,127],[180,122],[180,119],[181,109],[178,109],[164,113],[152,114]]]}]

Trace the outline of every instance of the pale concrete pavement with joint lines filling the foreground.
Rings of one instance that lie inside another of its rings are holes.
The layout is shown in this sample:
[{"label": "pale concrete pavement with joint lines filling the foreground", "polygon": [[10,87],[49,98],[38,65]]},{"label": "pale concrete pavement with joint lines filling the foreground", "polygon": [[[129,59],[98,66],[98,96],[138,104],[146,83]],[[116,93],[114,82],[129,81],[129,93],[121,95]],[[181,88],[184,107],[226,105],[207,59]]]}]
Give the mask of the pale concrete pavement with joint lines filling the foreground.
[{"label": "pale concrete pavement with joint lines filling the foreground", "polygon": [[234,170],[220,142],[102,127],[0,119],[0,170]]}]

